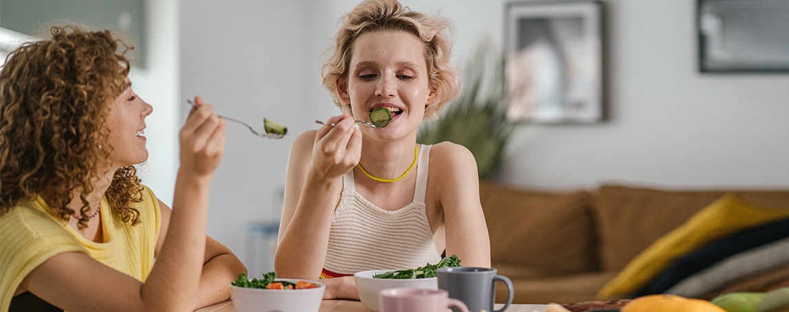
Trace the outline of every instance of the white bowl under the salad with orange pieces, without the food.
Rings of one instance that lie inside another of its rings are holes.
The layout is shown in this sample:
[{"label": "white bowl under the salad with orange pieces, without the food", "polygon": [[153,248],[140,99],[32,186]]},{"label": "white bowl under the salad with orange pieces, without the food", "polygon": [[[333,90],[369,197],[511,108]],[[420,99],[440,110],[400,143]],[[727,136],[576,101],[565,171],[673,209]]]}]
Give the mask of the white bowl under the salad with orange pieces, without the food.
[{"label": "white bowl under the salad with orange pieces, without the food", "polygon": [[[278,278],[296,283],[297,279]],[[244,288],[230,285],[233,306],[237,312],[317,312],[323,300],[326,285],[313,280],[305,280],[318,285],[308,289],[266,289]]]}]

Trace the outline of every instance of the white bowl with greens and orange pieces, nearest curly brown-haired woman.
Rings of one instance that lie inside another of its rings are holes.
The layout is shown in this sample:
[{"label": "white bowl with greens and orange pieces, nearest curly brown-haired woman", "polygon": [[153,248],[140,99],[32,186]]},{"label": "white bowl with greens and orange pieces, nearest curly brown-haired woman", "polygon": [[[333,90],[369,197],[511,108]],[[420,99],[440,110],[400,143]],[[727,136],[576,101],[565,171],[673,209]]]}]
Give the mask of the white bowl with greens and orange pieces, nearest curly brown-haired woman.
[{"label": "white bowl with greens and orange pieces, nearest curly brown-haired woman", "polygon": [[317,312],[326,285],[312,280],[276,278],[277,274],[263,274],[262,279],[249,280],[241,273],[230,283],[230,295],[237,312],[278,311]]}]

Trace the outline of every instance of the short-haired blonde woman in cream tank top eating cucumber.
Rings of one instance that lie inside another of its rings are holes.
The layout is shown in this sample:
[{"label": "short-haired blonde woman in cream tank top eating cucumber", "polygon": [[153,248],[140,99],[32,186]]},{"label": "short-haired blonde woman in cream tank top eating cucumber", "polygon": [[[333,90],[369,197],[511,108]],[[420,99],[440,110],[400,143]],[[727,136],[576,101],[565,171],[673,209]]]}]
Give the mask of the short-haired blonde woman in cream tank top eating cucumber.
[{"label": "short-haired blonde woman in cream tank top eating cucumber", "polygon": [[[363,270],[437,264],[443,252],[490,266],[473,155],[417,144],[422,121],[461,91],[450,28],[396,0],[361,2],[342,17],[322,76],[343,113],[290,151],[277,273],[320,276],[324,298],[357,299],[352,275]],[[391,112],[386,127],[354,127],[381,107]]]}]

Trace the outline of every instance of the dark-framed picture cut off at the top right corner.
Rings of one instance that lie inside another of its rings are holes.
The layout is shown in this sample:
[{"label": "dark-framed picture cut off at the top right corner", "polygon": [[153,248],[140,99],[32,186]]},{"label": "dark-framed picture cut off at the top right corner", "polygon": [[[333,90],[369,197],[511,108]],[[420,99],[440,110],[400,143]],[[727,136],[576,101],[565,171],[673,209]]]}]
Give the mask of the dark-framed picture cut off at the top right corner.
[{"label": "dark-framed picture cut off at the top right corner", "polygon": [[789,1],[697,0],[699,71],[789,72]]}]

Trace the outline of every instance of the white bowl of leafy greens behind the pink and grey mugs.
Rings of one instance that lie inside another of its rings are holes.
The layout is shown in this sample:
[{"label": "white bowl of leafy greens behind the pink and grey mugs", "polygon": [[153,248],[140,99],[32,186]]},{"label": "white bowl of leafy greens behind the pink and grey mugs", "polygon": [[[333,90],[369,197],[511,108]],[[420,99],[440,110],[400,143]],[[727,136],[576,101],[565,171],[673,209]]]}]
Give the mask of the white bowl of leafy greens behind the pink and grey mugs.
[{"label": "white bowl of leafy greens behind the pink and grey mugs", "polygon": [[378,311],[378,294],[388,288],[438,289],[436,269],[460,266],[457,255],[443,258],[435,265],[428,264],[416,269],[373,269],[353,274],[361,304],[368,310]]}]

